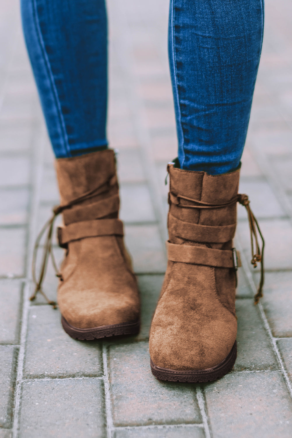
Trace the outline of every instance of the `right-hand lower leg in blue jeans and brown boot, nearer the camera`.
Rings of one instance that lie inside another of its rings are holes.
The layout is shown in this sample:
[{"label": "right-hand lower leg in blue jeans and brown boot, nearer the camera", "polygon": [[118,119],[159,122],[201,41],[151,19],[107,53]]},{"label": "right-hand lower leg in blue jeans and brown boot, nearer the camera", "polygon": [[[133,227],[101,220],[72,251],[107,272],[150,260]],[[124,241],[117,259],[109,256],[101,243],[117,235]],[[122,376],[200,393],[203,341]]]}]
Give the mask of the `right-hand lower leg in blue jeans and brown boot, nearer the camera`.
[{"label": "right-hand lower leg in blue jeans and brown boot, nearer the camera", "polygon": [[[179,163],[168,165],[168,265],[149,338],[151,370],[162,380],[215,380],[236,360],[238,262],[232,239],[239,201],[257,243],[248,197],[238,195],[238,167],[262,18],[261,0],[171,0]],[[263,247],[254,248],[256,266]],[[256,302],[262,285],[263,276]]]}]

